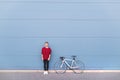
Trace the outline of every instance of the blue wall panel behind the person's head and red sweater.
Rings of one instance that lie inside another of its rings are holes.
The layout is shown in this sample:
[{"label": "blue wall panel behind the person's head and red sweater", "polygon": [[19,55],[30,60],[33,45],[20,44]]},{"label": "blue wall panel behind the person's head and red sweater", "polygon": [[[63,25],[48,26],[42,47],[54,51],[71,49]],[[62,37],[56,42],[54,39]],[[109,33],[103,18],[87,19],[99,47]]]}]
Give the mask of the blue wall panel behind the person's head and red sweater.
[{"label": "blue wall panel behind the person's head and red sweater", "polygon": [[53,54],[119,55],[119,40],[111,38],[1,39],[0,55],[38,55],[41,52],[44,41],[50,42]]}]

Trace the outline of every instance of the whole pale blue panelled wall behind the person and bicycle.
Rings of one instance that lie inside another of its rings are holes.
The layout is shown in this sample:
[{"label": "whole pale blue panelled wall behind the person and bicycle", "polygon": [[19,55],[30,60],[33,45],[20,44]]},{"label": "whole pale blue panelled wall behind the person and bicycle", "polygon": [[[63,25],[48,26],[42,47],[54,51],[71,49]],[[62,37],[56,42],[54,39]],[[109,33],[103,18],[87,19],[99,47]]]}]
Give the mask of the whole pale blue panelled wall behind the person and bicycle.
[{"label": "whole pale blue panelled wall behind the person and bicycle", "polygon": [[0,0],[0,69],[43,69],[40,52],[120,69],[119,0]]}]

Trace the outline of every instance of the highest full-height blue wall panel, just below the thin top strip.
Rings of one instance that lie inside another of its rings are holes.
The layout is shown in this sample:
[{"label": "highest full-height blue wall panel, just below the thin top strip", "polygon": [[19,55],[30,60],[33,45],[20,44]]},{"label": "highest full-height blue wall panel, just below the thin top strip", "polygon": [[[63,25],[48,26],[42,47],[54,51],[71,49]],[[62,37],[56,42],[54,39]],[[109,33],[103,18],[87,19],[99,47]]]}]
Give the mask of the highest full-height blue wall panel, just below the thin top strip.
[{"label": "highest full-height blue wall panel, just below the thin top strip", "polygon": [[[77,18],[119,19],[120,4],[14,4],[0,3],[0,20],[7,18]],[[14,12],[13,12],[14,11]]]}]

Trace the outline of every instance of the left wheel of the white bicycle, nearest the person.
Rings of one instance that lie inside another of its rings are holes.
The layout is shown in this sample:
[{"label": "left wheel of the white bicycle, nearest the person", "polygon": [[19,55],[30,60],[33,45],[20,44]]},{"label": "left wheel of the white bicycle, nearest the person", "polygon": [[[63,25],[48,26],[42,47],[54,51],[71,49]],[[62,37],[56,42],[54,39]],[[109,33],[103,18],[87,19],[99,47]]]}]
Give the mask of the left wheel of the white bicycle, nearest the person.
[{"label": "left wheel of the white bicycle, nearest the person", "polygon": [[54,69],[56,73],[62,74],[66,72],[66,64],[62,62],[62,60],[59,60],[55,63]]}]

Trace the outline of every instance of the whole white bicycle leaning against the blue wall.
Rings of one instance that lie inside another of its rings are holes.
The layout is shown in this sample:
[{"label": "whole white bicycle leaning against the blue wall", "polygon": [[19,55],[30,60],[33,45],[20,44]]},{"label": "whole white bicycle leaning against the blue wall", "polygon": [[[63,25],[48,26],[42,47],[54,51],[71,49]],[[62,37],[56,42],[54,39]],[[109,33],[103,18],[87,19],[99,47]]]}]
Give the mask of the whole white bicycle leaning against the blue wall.
[{"label": "whole white bicycle leaning against the blue wall", "polygon": [[85,65],[82,61],[76,59],[77,56],[72,56],[72,59],[60,57],[54,65],[56,73],[65,73],[66,70],[73,70],[74,73],[80,74],[85,70]]}]

